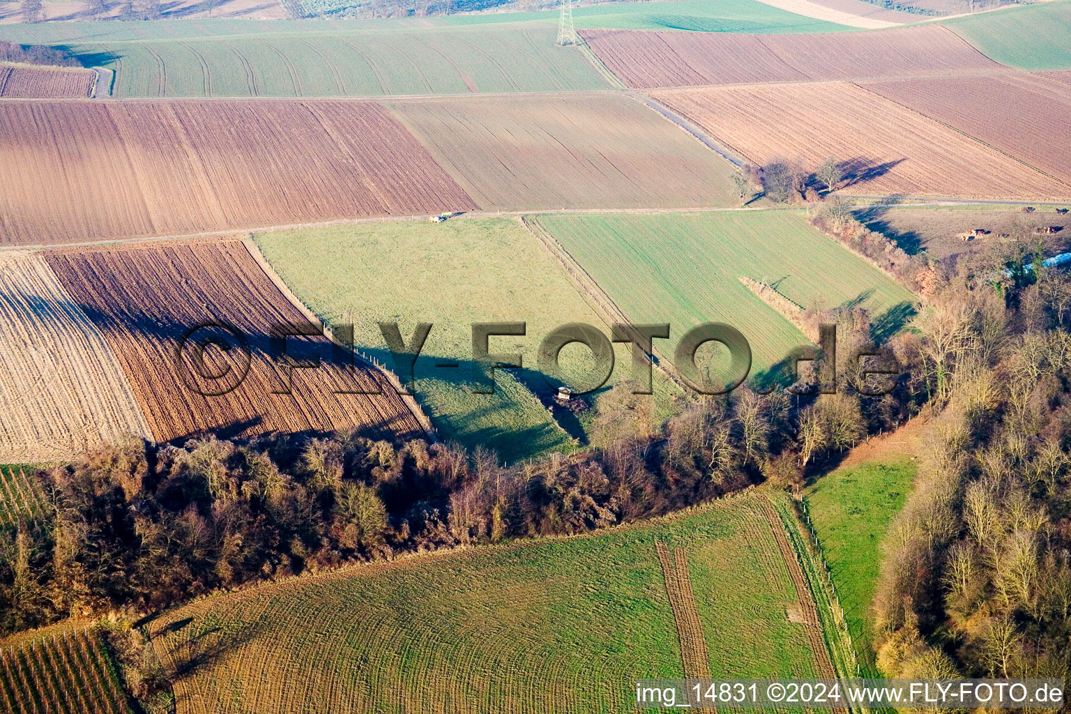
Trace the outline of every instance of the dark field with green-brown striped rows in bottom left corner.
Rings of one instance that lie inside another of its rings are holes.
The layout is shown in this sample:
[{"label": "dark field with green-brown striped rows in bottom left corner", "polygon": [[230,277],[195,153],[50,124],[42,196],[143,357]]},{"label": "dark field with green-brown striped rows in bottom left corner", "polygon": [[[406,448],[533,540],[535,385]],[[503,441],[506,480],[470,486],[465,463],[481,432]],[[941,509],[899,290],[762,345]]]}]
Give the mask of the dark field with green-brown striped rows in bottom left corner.
[{"label": "dark field with green-brown striped rows in bottom left corner", "polygon": [[11,714],[127,714],[116,664],[86,629],[0,645],[0,711]]}]

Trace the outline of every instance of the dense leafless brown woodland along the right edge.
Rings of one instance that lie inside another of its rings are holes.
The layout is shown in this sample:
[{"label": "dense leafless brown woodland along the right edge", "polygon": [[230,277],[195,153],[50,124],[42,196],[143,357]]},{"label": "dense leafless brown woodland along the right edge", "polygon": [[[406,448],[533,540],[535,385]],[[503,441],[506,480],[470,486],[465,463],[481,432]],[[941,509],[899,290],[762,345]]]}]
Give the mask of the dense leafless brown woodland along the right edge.
[{"label": "dense leafless brown woodland along the right edge", "polygon": [[1071,284],[1012,239],[939,276],[934,426],[874,604],[890,677],[1071,673]]}]

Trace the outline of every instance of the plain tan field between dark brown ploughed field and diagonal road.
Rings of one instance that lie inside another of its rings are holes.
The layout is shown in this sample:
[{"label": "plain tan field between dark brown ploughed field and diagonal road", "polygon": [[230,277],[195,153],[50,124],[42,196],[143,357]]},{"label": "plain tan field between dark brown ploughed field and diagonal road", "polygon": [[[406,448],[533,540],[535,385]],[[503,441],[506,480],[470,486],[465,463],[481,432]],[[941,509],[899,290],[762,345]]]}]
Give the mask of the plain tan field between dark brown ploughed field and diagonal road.
[{"label": "plain tan field between dark brown ploughed field and diagonal road", "polygon": [[734,200],[729,164],[631,97],[389,106],[484,210],[703,208]]}]

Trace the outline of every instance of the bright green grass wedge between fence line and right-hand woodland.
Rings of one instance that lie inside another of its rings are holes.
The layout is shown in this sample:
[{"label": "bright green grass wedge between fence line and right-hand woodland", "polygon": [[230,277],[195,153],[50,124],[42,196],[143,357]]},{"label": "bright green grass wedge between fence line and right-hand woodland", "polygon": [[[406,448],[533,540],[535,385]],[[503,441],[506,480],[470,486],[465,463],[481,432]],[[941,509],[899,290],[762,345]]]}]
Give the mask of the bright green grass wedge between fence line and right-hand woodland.
[{"label": "bright green grass wedge between fence line and right-hand woodland", "polygon": [[836,469],[805,493],[808,510],[860,664],[873,668],[868,628],[881,563],[881,540],[904,507],[917,462],[906,456]]}]

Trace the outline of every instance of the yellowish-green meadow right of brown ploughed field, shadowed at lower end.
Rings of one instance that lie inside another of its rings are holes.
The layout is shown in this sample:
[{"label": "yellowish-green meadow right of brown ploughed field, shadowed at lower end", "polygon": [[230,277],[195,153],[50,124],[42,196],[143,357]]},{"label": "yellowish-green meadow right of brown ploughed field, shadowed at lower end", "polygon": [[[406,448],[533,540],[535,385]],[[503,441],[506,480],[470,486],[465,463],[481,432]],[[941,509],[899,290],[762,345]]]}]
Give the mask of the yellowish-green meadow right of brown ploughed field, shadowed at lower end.
[{"label": "yellowish-green meadow right of brown ploughed field, shadowed at lower end", "polygon": [[[444,439],[483,444],[516,461],[572,451],[571,436],[585,438],[591,412],[580,419],[559,412],[559,426],[528,389],[549,390],[536,369],[537,349],[567,322],[609,330],[516,218],[365,224],[261,233],[256,241],[302,302],[328,324],[352,322],[355,343],[388,365],[380,321],[397,321],[406,339],[417,322],[434,325],[417,363],[416,391]],[[471,324],[492,321],[527,322],[527,336],[491,343],[492,351],[521,352],[526,368],[523,383],[498,371],[496,394],[477,395]],[[580,380],[590,374],[589,355],[571,345],[561,362]],[[615,374],[628,375],[628,353],[622,348],[618,355]],[[444,360],[459,366],[435,366]],[[665,415],[669,386],[658,388]]]}]

